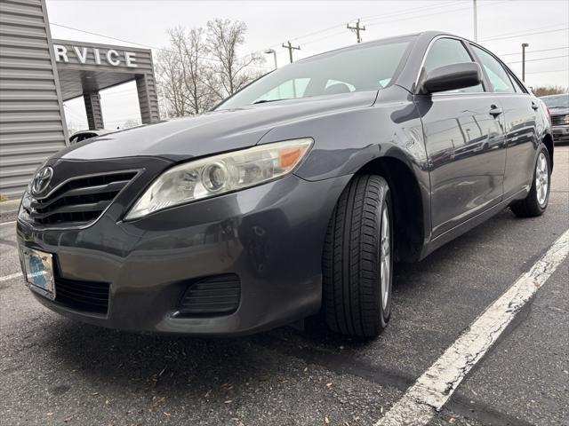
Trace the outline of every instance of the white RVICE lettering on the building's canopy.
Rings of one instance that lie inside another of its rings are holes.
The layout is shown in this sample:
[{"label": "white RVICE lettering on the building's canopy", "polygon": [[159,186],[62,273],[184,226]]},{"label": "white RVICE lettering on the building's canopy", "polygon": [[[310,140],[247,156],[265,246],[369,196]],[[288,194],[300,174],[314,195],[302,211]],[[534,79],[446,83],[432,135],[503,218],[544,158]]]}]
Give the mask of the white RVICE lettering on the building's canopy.
[{"label": "white RVICE lettering on the building's canopy", "polygon": [[109,65],[111,67],[137,67],[136,52],[117,51],[116,49],[100,49],[87,46],[64,46],[53,44],[55,60],[57,62],[75,63],[75,60],[84,65]]}]

